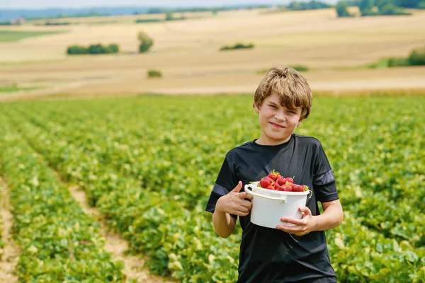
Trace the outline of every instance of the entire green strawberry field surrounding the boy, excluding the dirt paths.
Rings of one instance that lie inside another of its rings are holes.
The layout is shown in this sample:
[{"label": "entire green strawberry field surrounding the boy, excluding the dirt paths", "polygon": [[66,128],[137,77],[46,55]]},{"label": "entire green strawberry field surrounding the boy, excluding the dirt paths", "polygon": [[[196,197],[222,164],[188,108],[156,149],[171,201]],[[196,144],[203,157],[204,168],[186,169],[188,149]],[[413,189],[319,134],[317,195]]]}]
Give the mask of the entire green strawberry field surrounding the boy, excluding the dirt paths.
[{"label": "entire green strawberry field surrounding the boy, excluding the dirt paths", "polygon": [[[298,134],[333,167],[344,221],[327,231],[339,282],[425,281],[425,96],[317,97]],[[176,282],[235,282],[240,229],[212,229],[205,204],[225,154],[259,137],[251,96],[0,104],[23,282],[125,282],[67,185]]]}]

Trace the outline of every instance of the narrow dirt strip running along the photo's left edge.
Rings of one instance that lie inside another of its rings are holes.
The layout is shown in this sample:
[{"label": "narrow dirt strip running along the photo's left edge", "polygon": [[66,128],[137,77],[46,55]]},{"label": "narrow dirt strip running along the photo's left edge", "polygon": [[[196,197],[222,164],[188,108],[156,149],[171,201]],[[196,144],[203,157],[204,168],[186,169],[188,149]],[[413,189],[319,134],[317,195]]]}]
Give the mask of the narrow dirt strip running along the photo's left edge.
[{"label": "narrow dirt strip running along the photo's left edge", "polygon": [[3,225],[1,227],[2,240],[4,241],[3,255],[0,260],[0,282],[15,283],[18,277],[13,275],[16,266],[16,260],[20,253],[20,248],[16,245],[11,236],[11,227],[13,224],[13,216],[9,210],[9,194],[6,182],[0,178],[1,190],[1,217]]}]

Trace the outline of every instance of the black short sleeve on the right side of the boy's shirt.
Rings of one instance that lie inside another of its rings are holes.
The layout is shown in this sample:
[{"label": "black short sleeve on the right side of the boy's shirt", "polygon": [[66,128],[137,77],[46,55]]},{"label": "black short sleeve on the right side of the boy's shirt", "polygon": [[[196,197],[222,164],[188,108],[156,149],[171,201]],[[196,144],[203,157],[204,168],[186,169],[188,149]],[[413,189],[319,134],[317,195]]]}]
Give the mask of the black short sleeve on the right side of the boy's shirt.
[{"label": "black short sleeve on the right side of the boy's shirt", "polygon": [[316,194],[316,199],[319,202],[338,200],[339,195],[336,191],[334,173],[332,173],[331,165],[324,153],[322,144],[320,144],[318,148],[316,157],[313,173],[313,189]]}]

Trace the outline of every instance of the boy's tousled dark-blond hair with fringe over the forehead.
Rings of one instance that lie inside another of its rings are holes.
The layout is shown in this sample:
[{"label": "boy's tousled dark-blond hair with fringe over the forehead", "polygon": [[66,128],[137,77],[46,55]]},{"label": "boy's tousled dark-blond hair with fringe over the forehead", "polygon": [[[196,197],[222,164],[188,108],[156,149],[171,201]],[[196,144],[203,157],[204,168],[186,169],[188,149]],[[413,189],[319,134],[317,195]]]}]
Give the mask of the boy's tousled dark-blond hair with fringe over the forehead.
[{"label": "boy's tousled dark-blond hair with fringe over the forehead", "polygon": [[290,67],[273,67],[267,71],[254,95],[254,105],[261,107],[272,92],[280,96],[280,104],[290,109],[302,108],[301,119],[310,115],[312,91],[304,76]]}]

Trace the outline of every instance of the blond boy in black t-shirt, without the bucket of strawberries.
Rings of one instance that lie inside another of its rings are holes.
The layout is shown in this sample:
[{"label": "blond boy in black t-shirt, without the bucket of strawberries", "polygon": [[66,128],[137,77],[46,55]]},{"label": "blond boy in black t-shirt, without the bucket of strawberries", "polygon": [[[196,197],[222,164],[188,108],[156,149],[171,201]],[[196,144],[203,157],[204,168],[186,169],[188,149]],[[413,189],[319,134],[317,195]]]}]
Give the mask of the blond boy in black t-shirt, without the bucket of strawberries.
[{"label": "blond boy in black t-shirt, without the bucket of strawberries", "polygon": [[[324,235],[343,219],[334,175],[320,141],[293,134],[311,105],[310,86],[300,73],[288,67],[268,70],[254,96],[261,135],[226,154],[206,210],[213,212],[214,229],[222,238],[234,231],[239,216],[237,282],[336,282]],[[252,196],[241,189],[272,170],[312,189],[306,207],[299,208],[302,219],[281,219],[295,226],[270,229],[249,221]]]}]

